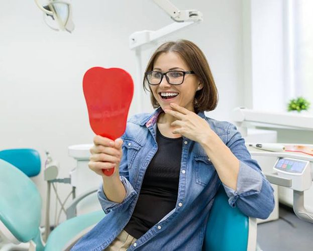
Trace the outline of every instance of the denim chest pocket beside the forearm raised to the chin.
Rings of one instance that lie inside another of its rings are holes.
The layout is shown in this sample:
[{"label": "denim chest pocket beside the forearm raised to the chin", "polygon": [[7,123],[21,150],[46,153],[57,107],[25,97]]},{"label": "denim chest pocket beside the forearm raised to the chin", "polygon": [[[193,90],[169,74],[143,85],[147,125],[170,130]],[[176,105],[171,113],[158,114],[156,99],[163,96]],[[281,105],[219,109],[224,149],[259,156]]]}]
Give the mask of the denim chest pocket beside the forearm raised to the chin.
[{"label": "denim chest pocket beside the forearm raised to the chin", "polygon": [[212,179],[215,168],[207,156],[195,156],[195,182],[206,186]]}]

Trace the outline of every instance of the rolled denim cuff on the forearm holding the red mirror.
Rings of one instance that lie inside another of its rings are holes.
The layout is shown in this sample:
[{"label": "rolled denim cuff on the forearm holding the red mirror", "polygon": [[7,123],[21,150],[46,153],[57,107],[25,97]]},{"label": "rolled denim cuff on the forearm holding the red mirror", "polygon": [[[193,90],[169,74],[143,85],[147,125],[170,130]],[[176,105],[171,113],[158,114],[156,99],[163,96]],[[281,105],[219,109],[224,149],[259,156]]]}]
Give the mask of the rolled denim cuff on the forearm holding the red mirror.
[{"label": "rolled denim cuff on the forearm holding the red mirror", "polygon": [[102,183],[97,191],[98,200],[106,214],[111,210],[125,207],[125,204],[129,204],[128,202],[137,194],[131,183],[124,176],[120,176],[120,179],[126,191],[125,198],[121,203],[111,201],[107,198],[106,194],[103,192]]}]

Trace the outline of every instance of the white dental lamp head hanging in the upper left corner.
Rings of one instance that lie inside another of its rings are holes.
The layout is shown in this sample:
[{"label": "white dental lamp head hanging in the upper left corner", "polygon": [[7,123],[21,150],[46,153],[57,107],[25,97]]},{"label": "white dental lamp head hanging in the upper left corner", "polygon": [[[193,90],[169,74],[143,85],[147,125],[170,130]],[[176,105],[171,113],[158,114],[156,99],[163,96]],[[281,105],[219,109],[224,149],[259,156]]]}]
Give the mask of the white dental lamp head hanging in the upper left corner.
[{"label": "white dental lamp head hanging in the upper left corner", "polygon": [[69,33],[74,30],[70,0],[48,0],[43,6],[39,0],[35,3],[44,12],[44,21],[51,29]]}]

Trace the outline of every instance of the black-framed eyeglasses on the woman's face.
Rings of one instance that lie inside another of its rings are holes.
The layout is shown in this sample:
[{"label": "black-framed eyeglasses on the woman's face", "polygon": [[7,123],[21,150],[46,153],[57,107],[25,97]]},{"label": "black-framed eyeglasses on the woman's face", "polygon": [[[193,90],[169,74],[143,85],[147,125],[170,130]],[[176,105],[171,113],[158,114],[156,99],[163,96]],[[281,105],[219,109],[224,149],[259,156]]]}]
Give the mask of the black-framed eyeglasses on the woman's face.
[{"label": "black-framed eyeglasses on the woman's face", "polygon": [[194,74],[193,71],[168,71],[168,72],[159,72],[159,71],[147,71],[145,73],[145,78],[148,83],[151,85],[157,85],[162,82],[163,77],[165,76],[169,84],[182,84],[186,74]]}]

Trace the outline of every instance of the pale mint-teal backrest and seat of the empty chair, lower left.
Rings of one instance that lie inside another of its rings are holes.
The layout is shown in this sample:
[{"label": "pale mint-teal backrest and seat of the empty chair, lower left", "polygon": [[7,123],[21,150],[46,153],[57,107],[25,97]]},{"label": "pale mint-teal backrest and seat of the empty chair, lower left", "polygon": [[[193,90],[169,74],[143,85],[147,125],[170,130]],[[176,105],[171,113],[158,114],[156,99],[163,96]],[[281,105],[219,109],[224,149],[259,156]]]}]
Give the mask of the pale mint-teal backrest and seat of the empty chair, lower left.
[{"label": "pale mint-teal backrest and seat of the empty chair, lower left", "polygon": [[21,170],[0,159],[0,231],[12,242],[29,242],[33,250],[64,250],[99,222],[101,210],[66,220],[49,235],[46,244],[41,240],[41,197],[36,185]]}]

